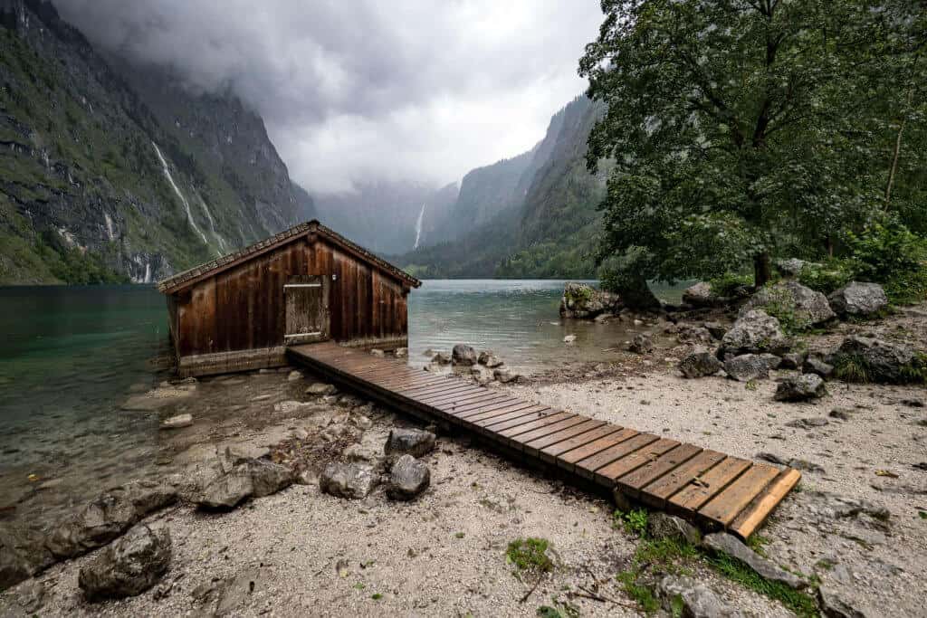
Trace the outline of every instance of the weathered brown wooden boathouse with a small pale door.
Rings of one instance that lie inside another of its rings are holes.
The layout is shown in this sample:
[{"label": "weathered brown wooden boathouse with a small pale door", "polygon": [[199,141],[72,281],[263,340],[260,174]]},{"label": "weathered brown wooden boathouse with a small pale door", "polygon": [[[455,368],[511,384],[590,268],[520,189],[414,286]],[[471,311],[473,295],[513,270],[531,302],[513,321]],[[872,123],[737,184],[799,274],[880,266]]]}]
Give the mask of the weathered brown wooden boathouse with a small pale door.
[{"label": "weathered brown wooden boathouse with a small pale door", "polygon": [[286,346],[407,345],[407,296],[421,283],[309,221],[158,284],[181,376],[287,364]]}]

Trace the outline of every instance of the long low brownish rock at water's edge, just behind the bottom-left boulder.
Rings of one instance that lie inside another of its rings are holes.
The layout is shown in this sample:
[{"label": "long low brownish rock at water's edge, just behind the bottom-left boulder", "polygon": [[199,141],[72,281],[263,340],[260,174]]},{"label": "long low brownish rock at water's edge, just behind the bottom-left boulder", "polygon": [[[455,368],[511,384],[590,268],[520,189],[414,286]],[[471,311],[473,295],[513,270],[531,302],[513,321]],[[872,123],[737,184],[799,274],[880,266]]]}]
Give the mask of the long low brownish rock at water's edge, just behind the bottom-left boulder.
[{"label": "long low brownish rock at water's edge, just behind the bottom-left boulder", "polygon": [[154,481],[133,481],[110,489],[58,523],[45,540],[59,559],[80,556],[106,545],[148,513],[159,511],[177,500],[171,486]]}]

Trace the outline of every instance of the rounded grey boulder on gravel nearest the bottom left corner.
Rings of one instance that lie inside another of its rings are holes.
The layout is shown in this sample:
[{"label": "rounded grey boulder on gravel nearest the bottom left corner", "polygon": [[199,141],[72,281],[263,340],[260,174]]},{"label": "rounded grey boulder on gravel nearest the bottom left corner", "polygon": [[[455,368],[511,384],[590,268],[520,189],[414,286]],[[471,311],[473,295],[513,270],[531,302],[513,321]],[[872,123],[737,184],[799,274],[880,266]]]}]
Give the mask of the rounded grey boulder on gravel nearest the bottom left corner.
[{"label": "rounded grey boulder on gravel nearest the bottom left corner", "polygon": [[170,566],[170,531],[143,523],[81,567],[78,586],[90,600],[134,597],[157,584]]}]

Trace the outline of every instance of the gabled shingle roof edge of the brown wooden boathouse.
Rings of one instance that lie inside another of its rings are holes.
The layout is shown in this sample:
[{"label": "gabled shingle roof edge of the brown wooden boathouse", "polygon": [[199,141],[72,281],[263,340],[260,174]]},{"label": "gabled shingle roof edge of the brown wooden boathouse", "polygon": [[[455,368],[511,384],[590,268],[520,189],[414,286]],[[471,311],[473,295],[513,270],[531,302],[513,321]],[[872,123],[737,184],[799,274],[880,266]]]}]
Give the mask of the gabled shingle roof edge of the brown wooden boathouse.
[{"label": "gabled shingle roof edge of the brown wooden boathouse", "polygon": [[159,282],[158,289],[163,294],[175,294],[189,287],[190,285],[196,284],[202,279],[210,277],[216,273],[226,271],[237,266],[238,264],[248,261],[248,259],[256,258],[257,256],[268,253],[269,251],[273,251],[280,246],[289,245],[290,243],[296,242],[299,239],[313,234],[325,238],[332,244],[336,245],[338,248],[343,249],[352,255],[354,258],[362,260],[378,271],[386,272],[388,275],[391,275],[395,279],[399,279],[401,282],[408,284],[411,287],[418,287],[422,284],[422,282],[420,282],[409,273],[402,271],[396,266],[393,266],[385,259],[377,258],[367,249],[352,243],[341,234],[325,227],[322,223],[313,219],[312,221],[299,223],[298,225],[295,225],[294,227],[291,227],[284,232],[274,234],[273,236],[265,238],[264,240],[261,240],[254,245],[246,246],[243,249],[235,251],[235,253],[230,253],[226,256],[222,256],[222,258],[213,259],[212,261],[206,262],[205,264],[200,264],[199,266],[196,266],[189,271],[178,272],[177,274]]}]

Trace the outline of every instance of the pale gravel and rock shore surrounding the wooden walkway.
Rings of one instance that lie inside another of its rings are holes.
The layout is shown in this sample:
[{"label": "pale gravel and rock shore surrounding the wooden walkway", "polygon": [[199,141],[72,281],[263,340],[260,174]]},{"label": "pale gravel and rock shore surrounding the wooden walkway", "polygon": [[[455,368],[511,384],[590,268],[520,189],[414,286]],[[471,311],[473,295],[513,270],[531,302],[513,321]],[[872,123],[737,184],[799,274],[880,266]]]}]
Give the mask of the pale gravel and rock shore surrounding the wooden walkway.
[{"label": "pale gravel and rock shore surrounding the wooden walkway", "polygon": [[[635,554],[687,524],[651,513],[644,536],[615,532],[601,498],[302,372],[265,371],[130,399],[126,413],[163,427],[163,473],[43,530],[5,525],[0,574],[20,583],[0,596],[0,612],[633,615],[641,601],[616,579],[633,572],[667,612],[682,599],[711,608],[704,615],[790,615],[710,566],[734,555],[817,612],[917,615],[927,417],[922,385],[905,384],[913,373],[901,367],[921,358],[906,342],[927,340],[927,312],[835,315],[786,334],[761,308],[714,307],[695,320],[692,310],[606,318],[629,322],[609,362],[503,380],[501,359],[461,345],[428,354],[426,369],[801,469],[800,490],[759,532],[759,553],[711,536],[686,559],[691,575],[641,571]],[[867,359],[871,349],[867,371],[882,373],[867,378],[891,384],[835,374],[839,354]],[[622,516],[637,508],[618,503]],[[537,581],[514,576],[505,547],[516,537],[550,541],[556,568]]]}]

